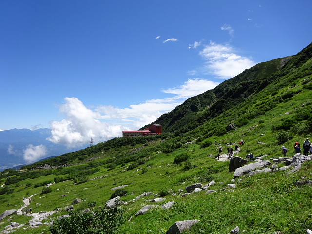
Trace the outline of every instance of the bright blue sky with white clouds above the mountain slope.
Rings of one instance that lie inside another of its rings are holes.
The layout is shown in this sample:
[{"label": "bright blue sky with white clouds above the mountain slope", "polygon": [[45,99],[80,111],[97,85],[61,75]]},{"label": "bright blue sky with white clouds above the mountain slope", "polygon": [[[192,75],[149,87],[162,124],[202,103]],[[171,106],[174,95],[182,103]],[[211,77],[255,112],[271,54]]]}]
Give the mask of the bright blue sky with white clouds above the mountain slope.
[{"label": "bright blue sky with white clouds above the mountain slope", "polygon": [[2,0],[0,129],[71,146],[155,121],[312,41],[311,0]]}]

